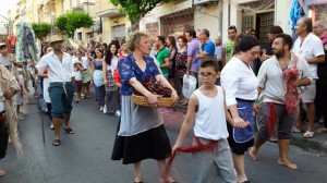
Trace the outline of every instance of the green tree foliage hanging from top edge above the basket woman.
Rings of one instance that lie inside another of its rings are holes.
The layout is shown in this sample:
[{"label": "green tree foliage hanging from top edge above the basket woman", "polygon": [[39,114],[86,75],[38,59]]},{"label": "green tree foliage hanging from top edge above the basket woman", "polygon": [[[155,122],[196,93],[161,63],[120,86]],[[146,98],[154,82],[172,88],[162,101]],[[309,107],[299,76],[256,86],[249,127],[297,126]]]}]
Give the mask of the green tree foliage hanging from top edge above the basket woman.
[{"label": "green tree foliage hanging from top edge above the basket woman", "polygon": [[140,20],[158,3],[169,0],[110,0],[113,5],[120,5],[120,11],[128,14],[132,25],[138,25]]}]

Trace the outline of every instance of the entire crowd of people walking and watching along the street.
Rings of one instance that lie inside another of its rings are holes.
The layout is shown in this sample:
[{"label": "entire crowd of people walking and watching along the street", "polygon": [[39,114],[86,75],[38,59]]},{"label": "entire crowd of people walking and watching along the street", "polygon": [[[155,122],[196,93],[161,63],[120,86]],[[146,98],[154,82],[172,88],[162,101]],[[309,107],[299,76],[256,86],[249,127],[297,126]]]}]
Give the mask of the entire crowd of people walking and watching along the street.
[{"label": "entire crowd of people walking and watching along the street", "polygon": [[[293,41],[280,26],[271,26],[264,49],[255,29],[238,34],[235,26],[228,28],[225,44],[219,36],[211,40],[206,28],[198,36],[187,29],[178,37],[155,38],[134,32],[126,41],[92,41],[88,48],[75,49],[63,49],[62,36],[51,35],[39,61],[24,63],[16,62],[14,50],[1,42],[0,158],[5,155],[9,136],[21,150],[16,124],[27,112],[32,81],[40,111],[52,122],[53,146],[61,144],[61,119],[63,131],[74,134],[70,125],[72,102],[90,97],[94,86],[98,110],[120,117],[111,159],[133,163],[134,182],[142,182],[141,161],[149,158],[158,162],[160,182],[174,182],[165,172],[166,159],[181,150],[192,127],[193,144],[198,147],[192,156],[196,164],[192,182],[205,182],[213,164],[226,182],[250,182],[244,154],[249,150],[256,160],[266,141],[277,141],[278,163],[298,169],[288,158],[291,133],[304,132],[303,121],[307,119],[303,137],[313,138],[313,125],[320,117],[325,127],[317,133],[327,133],[327,24],[301,17]],[[197,80],[190,98],[180,95],[184,75]],[[172,148],[158,96],[143,85],[148,78],[170,88],[173,103],[187,106]],[[146,97],[149,107],[132,101],[134,90]],[[16,106],[15,110],[10,110],[11,106]],[[0,170],[0,176],[4,174]]]}]

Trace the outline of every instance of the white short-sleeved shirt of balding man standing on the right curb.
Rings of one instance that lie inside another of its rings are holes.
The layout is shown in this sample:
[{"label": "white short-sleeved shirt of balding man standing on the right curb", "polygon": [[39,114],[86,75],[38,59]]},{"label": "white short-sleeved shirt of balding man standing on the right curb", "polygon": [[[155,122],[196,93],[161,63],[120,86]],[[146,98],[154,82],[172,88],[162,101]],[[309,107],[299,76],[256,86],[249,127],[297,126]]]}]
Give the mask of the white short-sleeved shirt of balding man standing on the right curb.
[{"label": "white short-sleeved shirt of balding man standing on the right curb", "polygon": [[[317,36],[313,35],[312,33],[310,33],[305,37],[301,47],[300,45],[301,45],[301,37],[298,37],[298,39],[294,42],[293,53],[295,53],[296,56],[299,56],[304,60],[314,59],[318,56],[325,56],[324,45],[322,40]],[[308,64],[308,66],[310,66],[311,77],[318,78],[317,64]]]}]

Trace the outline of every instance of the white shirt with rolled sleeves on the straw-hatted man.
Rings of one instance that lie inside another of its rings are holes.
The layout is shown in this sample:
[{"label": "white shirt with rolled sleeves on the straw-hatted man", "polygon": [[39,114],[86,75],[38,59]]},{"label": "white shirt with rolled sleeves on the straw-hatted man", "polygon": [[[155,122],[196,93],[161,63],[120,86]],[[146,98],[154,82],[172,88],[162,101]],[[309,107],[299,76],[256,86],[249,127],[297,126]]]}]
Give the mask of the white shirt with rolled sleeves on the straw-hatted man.
[{"label": "white shirt with rolled sleeves on the straw-hatted man", "polygon": [[62,62],[52,51],[44,56],[36,68],[38,69],[38,74],[44,73],[44,70],[48,68],[48,78],[50,83],[71,82],[74,73],[71,56],[65,52],[63,52]]}]

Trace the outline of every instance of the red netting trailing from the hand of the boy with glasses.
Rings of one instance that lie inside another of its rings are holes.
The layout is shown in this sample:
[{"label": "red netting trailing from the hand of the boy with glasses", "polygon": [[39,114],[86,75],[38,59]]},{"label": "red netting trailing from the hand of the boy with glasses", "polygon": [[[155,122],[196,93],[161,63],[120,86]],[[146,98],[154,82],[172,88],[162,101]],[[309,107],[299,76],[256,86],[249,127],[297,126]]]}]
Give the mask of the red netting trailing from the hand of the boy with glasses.
[{"label": "red netting trailing from the hand of the boy with glasses", "polygon": [[213,150],[218,143],[218,141],[211,141],[208,144],[202,144],[198,137],[196,136],[194,137],[194,139],[196,145],[190,145],[189,147],[180,147],[169,157],[162,178],[167,178],[169,175],[172,161],[179,152],[209,151]]}]

